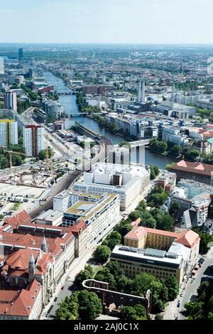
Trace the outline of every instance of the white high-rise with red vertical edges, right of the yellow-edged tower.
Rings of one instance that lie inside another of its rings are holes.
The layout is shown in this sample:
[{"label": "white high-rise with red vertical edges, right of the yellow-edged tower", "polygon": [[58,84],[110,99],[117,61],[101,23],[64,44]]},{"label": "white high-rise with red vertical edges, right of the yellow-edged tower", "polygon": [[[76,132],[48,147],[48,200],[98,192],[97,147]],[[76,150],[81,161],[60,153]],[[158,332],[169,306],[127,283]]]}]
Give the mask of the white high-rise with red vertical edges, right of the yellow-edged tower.
[{"label": "white high-rise with red vertical edges, right of the yellow-edged tower", "polygon": [[38,156],[45,149],[45,129],[40,125],[23,126],[23,147],[26,156]]}]

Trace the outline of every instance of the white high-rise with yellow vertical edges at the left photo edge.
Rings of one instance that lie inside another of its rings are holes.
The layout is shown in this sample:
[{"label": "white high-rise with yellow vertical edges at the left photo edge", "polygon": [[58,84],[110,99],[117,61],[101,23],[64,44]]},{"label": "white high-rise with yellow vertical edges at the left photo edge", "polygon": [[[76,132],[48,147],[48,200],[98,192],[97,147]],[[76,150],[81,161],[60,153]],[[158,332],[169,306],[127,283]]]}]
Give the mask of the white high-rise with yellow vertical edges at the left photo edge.
[{"label": "white high-rise with yellow vertical edges at the left photo edge", "polygon": [[18,124],[13,119],[0,119],[0,146],[18,144]]}]

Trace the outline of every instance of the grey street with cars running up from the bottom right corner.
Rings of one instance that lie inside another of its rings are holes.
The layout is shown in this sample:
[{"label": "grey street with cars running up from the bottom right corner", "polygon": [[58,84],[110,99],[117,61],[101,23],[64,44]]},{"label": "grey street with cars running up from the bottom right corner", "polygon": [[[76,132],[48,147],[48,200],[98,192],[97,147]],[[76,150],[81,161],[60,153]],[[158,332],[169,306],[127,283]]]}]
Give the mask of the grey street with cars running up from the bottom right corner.
[{"label": "grey street with cars running up from the bottom right corner", "polygon": [[[198,261],[198,260],[197,260]],[[188,303],[190,301],[190,298],[192,295],[197,295],[197,288],[200,286],[200,281],[202,274],[207,269],[209,265],[211,265],[213,262],[213,247],[209,249],[209,252],[205,256],[204,263],[197,271],[197,276],[195,276],[195,279],[188,279],[187,282],[184,282],[181,286],[182,289],[185,288],[185,291],[183,293],[183,296],[180,297],[180,294],[175,299],[175,301],[171,301],[169,305],[165,308],[165,311],[163,314],[164,320],[175,320],[175,318],[178,318],[178,320],[185,320],[185,316],[182,313],[182,311],[185,310],[184,306],[185,303]],[[181,291],[183,291],[180,289]],[[178,308],[178,300],[180,300],[180,308]]]}]

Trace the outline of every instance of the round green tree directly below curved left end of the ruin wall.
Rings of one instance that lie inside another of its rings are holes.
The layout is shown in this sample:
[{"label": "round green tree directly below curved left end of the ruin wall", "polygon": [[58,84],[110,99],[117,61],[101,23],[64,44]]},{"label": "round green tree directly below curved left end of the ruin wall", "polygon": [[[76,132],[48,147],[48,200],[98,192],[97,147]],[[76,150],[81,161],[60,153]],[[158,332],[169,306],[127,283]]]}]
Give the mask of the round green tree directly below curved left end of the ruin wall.
[{"label": "round green tree directly below curved left end of the ruin wall", "polygon": [[80,291],[78,303],[81,320],[94,320],[103,311],[102,301],[94,292],[87,290]]}]

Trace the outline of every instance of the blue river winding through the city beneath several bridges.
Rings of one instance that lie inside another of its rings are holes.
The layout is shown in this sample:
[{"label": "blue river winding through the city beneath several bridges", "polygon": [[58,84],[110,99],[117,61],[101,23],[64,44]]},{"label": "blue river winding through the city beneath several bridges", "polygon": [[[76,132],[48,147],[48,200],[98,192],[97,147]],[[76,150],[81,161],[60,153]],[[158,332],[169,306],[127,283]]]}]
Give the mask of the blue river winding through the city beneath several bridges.
[{"label": "blue river winding through the city beneath several bridges", "polygon": [[[70,89],[65,85],[65,83],[60,79],[60,77],[56,77],[51,72],[44,72],[45,80],[48,82],[48,85],[54,85],[55,90],[57,92],[68,92]],[[77,114],[79,113],[77,104],[75,102],[75,95],[64,95],[59,97],[59,102],[65,107],[65,112],[67,115]],[[100,126],[93,119],[88,117],[75,117],[76,122],[87,126],[87,128],[92,129],[99,134],[107,137],[111,140],[113,144],[119,144],[121,141],[124,141],[124,138],[118,136],[116,134],[112,134],[110,131],[105,129],[103,126]],[[175,161],[173,158],[169,158],[167,156],[161,156],[160,154],[152,153],[149,150],[146,150],[145,162],[147,165],[158,165],[159,168],[165,168],[165,165]]]}]

